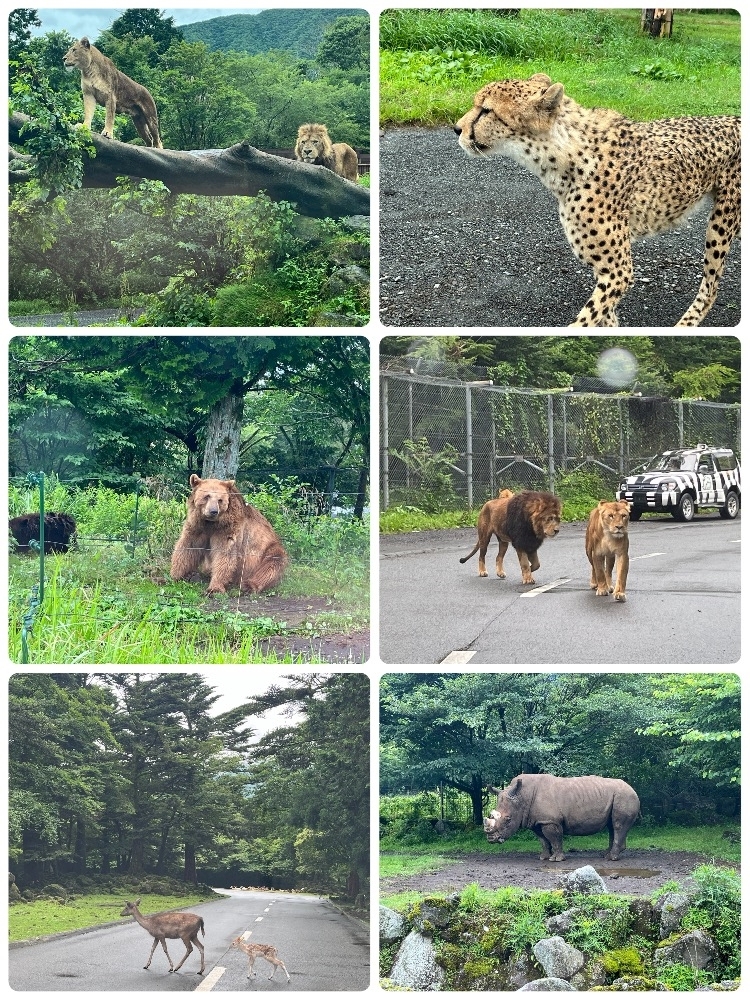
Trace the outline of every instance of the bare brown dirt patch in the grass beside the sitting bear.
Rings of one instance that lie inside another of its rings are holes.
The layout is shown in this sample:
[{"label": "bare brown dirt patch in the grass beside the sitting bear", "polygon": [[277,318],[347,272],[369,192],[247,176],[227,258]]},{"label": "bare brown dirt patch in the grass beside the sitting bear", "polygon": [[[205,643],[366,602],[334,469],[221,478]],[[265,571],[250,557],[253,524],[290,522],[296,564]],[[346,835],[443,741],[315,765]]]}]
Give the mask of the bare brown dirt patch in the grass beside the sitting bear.
[{"label": "bare brown dirt patch in the grass beside the sitting bear", "polygon": [[[273,618],[279,623],[279,635],[269,636],[260,643],[264,654],[270,651],[279,656],[293,653],[302,656],[307,663],[363,664],[369,659],[369,629],[316,634],[314,626],[319,616],[343,612],[328,598],[241,595],[234,597],[229,607],[249,618]],[[313,624],[312,630],[305,628],[307,622]]]}]

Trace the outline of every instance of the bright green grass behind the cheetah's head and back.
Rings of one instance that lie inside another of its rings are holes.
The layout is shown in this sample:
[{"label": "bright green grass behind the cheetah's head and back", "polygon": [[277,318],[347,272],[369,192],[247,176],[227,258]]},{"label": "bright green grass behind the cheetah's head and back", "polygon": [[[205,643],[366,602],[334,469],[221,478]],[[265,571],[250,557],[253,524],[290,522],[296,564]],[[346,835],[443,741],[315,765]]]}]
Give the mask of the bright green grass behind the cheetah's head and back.
[{"label": "bright green grass behind the cheetah's head and back", "polygon": [[740,18],[675,11],[671,39],[640,10],[402,10],[381,18],[384,125],[446,125],[490,80],[547,73],[579,104],[632,118],[740,113]]}]

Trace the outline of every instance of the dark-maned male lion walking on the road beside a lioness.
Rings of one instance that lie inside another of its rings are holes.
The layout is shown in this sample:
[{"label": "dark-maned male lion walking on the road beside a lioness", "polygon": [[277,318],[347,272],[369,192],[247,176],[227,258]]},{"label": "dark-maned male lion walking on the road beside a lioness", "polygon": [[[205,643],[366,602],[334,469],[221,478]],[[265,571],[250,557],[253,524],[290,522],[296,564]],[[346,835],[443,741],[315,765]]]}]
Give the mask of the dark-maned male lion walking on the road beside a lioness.
[{"label": "dark-maned male lion walking on the road beside a lioness", "polygon": [[554,538],[560,530],[562,504],[554,493],[502,490],[496,500],[488,500],[479,512],[477,544],[459,562],[465,563],[479,549],[479,575],[487,576],[485,556],[494,535],[498,541],[495,572],[505,578],[503,558],[512,545],[521,566],[521,580],[534,583],[532,573],[539,569],[538,550],[545,538]]}]

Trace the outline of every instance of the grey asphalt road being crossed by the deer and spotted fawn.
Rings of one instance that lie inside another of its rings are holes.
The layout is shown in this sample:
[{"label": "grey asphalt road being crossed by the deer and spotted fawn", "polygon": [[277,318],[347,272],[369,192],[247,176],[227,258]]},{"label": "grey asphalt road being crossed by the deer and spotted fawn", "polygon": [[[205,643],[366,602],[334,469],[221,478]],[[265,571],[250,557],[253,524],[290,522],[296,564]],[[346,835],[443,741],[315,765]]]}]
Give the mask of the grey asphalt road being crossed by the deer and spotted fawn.
[{"label": "grey asphalt road being crossed by the deer and spotted fawn", "polygon": [[[222,890],[228,899],[198,904],[206,928],[206,970],[197,949],[177,973],[170,973],[157,946],[151,968],[143,966],[152,938],[135,922],[58,935],[9,954],[9,982],[14,990],[218,991],[363,990],[369,985],[368,929],[340,913],[328,900],[301,894]],[[269,980],[273,966],[262,958],[255,978],[247,978],[247,956],[230,948],[244,931],[250,941],[273,944],[286,965]],[[203,943],[203,938],[201,938]],[[175,965],[184,954],[180,941],[168,941]]]}]

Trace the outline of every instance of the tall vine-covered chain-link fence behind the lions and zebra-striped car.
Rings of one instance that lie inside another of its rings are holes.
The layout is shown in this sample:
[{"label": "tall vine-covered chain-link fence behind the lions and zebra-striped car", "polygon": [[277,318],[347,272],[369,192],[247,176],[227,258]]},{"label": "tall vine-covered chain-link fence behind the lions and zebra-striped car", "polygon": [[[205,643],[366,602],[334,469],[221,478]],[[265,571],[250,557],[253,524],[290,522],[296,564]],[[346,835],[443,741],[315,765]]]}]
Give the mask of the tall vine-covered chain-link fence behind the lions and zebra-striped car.
[{"label": "tall vine-covered chain-link fence behind the lions and zebra-striped car", "polygon": [[556,492],[596,472],[614,490],[661,452],[740,448],[739,404],[663,396],[540,391],[381,372],[381,503],[452,494],[468,507],[501,488]]}]

